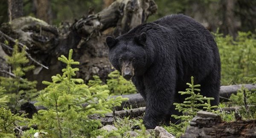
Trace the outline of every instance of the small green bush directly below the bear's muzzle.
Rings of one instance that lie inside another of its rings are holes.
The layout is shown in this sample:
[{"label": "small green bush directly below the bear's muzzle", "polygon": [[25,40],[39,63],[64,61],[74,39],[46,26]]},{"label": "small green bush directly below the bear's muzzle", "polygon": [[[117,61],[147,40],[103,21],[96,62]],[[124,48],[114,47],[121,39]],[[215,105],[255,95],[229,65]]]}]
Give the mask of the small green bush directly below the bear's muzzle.
[{"label": "small green bush directly below the bear's muzzle", "polygon": [[108,77],[110,79],[107,80],[107,85],[112,95],[127,95],[137,92],[134,84],[125,80],[117,70],[111,72]]}]

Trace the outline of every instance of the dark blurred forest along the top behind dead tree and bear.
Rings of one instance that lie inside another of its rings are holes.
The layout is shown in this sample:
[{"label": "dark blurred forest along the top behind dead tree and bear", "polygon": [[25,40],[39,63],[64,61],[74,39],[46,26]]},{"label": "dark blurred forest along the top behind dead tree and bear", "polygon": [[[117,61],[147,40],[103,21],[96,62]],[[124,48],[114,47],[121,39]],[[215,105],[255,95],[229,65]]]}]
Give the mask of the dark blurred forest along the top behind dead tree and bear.
[{"label": "dark blurred forest along the top behind dead tree and bear", "polygon": [[[0,24],[8,22],[8,1],[17,1],[17,16],[33,16],[49,24],[59,26],[73,23],[81,16],[93,14],[109,6],[115,0],[1,0]],[[204,24],[210,31],[219,28],[221,33],[237,35],[237,31],[255,32],[255,0],[155,0],[157,13],[147,22],[168,14],[186,14]]]}]

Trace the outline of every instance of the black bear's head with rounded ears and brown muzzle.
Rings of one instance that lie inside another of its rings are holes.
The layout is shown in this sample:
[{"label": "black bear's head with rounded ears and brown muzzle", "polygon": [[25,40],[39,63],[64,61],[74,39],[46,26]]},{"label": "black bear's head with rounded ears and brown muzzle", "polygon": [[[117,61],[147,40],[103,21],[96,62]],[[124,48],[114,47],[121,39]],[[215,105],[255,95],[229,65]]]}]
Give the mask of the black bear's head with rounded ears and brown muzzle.
[{"label": "black bear's head with rounded ears and brown muzzle", "polygon": [[108,36],[106,43],[109,47],[111,64],[122,73],[126,80],[134,75],[143,75],[147,63],[146,34],[125,34],[116,39]]}]

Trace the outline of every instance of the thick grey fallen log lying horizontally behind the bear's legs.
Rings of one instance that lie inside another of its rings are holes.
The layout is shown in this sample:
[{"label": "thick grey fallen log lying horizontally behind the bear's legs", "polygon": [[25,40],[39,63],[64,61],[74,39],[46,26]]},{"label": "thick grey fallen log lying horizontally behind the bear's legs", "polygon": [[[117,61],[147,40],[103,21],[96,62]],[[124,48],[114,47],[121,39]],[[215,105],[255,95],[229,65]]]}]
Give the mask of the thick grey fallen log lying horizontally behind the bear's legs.
[{"label": "thick grey fallen log lying horizontally behind the bear's legs", "polygon": [[[256,85],[244,84],[244,88],[248,90],[252,90],[252,89],[256,89]],[[229,98],[231,94],[236,94],[238,89],[241,89],[241,85],[221,86],[220,100],[223,100],[224,98]],[[124,108],[135,109],[135,108],[146,106],[144,99],[139,93],[131,94],[131,95],[119,95],[119,96],[122,96],[123,98],[129,98],[129,100],[124,101],[121,106],[115,107],[116,111],[123,110]],[[115,97],[117,96],[112,96],[111,98],[115,98]],[[43,106],[34,106],[34,103],[36,103],[36,101],[27,102],[21,105],[21,109],[25,110],[26,113],[29,114],[28,115],[29,117],[32,117],[32,115],[40,109],[46,109]],[[84,105],[87,105],[87,104],[84,104]]]}]

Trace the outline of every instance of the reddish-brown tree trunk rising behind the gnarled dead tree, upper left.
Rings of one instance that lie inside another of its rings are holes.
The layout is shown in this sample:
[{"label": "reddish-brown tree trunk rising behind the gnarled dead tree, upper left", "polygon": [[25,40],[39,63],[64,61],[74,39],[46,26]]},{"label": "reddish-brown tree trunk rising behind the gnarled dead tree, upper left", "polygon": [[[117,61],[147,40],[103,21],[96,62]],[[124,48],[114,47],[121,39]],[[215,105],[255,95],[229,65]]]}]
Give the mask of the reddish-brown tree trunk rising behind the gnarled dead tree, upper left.
[{"label": "reddish-brown tree trunk rising behind the gnarled dead tree, upper left", "polygon": [[52,9],[50,0],[34,0],[36,17],[47,23],[52,23]]}]

